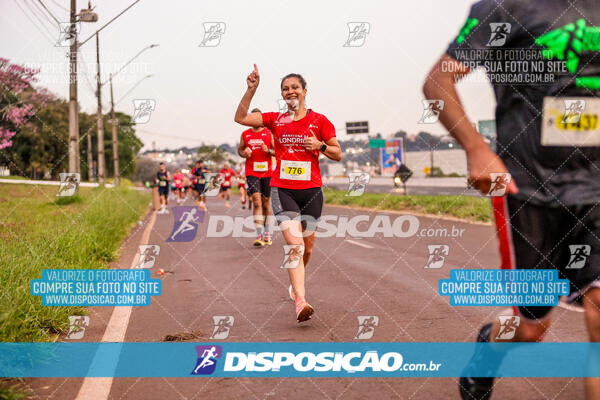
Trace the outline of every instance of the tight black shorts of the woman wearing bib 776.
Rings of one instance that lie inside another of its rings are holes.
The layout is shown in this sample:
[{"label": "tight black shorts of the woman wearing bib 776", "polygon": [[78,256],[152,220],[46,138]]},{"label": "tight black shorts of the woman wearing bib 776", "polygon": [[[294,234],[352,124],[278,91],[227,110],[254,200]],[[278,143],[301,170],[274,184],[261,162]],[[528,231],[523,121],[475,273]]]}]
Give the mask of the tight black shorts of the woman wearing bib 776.
[{"label": "tight black shorts of the woman wearing bib 776", "polygon": [[309,189],[271,188],[271,207],[279,223],[299,219],[302,229],[316,231],[323,211],[323,191],[320,187]]}]

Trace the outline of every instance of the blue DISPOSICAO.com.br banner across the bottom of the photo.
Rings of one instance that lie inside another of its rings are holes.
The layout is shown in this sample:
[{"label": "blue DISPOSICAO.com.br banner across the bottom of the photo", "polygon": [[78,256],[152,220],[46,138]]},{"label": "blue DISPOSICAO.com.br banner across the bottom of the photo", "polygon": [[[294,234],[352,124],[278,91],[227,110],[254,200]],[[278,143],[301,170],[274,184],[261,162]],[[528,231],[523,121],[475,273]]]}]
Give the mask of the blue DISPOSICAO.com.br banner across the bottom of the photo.
[{"label": "blue DISPOSICAO.com.br banner across the bottom of the photo", "polygon": [[600,376],[596,343],[0,343],[0,359],[0,377]]}]

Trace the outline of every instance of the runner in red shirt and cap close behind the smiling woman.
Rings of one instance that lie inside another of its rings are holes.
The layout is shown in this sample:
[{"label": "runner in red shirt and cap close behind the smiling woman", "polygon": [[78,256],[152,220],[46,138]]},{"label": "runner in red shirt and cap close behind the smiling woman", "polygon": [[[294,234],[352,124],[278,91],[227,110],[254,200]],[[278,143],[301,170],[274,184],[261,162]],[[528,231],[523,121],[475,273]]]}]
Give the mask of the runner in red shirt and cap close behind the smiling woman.
[{"label": "runner in red shirt and cap close behind the smiling woman", "polygon": [[[258,108],[253,113],[260,113]],[[264,127],[250,128],[242,132],[238,154],[246,159],[248,195],[254,206],[256,240],[254,246],[270,245],[271,234],[268,218],[271,214],[271,157],[275,154],[271,131]]]}]

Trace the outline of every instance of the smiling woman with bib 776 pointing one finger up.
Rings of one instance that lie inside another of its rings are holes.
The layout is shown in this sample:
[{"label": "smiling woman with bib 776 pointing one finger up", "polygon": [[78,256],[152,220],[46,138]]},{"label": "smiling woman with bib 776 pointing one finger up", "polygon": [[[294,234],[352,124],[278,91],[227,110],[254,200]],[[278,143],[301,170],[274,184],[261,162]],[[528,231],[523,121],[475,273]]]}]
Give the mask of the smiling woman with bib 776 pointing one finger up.
[{"label": "smiling woman with bib 776 pointing one finger up", "polygon": [[288,105],[286,112],[248,114],[259,81],[254,64],[246,79],[248,89],[235,113],[235,122],[255,128],[264,126],[273,133],[277,168],[271,177],[271,204],[285,242],[294,246],[289,248],[288,258],[302,254],[297,267],[288,268],[292,283],[290,297],[296,303],[296,319],[302,322],[314,313],[306,301],[304,274],[323,209],[319,154],[340,161],[342,149],[333,124],[324,115],[306,109],[306,81],[299,74],[286,75],[281,81],[281,96]]}]

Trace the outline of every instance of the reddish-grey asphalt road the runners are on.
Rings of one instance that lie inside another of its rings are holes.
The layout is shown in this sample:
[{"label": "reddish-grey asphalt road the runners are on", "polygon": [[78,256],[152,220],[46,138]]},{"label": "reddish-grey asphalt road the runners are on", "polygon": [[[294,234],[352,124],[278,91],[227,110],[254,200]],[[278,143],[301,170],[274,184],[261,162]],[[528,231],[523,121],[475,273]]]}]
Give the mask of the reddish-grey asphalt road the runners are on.
[{"label": "reddish-grey asphalt road the runners are on", "polygon": [[[192,205],[188,201],[186,205]],[[201,331],[191,341],[209,341],[213,316],[235,318],[223,341],[342,342],[355,341],[357,316],[375,315],[379,326],[369,340],[377,342],[472,341],[479,327],[503,309],[451,307],[437,294],[439,279],[451,268],[496,268],[498,245],[490,225],[418,216],[419,228],[457,237],[413,236],[386,238],[319,238],[307,268],[307,299],[315,307],[311,321],[297,324],[287,295],[282,237],[267,248],[253,248],[250,238],[208,238],[208,220],[218,215],[246,216],[237,198],[226,209],[210,199],[208,214],[192,242],[166,242],[173,214],[157,215],[148,244],[161,246],[151,269],[167,273],[163,294],[148,307],[133,308],[124,341],[158,342],[166,335]],[[352,217],[364,210],[325,207],[324,214]],[[367,213],[371,217],[375,213]],[[386,214],[386,213],[380,213]],[[387,213],[392,218],[399,213]],[[147,215],[125,242],[115,267],[129,268],[135,260]],[[424,268],[427,245],[447,244],[442,268]],[[83,341],[100,341],[111,316],[110,308],[90,308],[90,326]],[[585,341],[582,314],[557,308],[550,342]],[[40,399],[75,398],[83,379],[28,379]],[[458,399],[456,378],[115,378],[110,399]],[[102,383],[101,381],[99,381]],[[499,378],[494,399],[581,399],[581,379]]]}]

